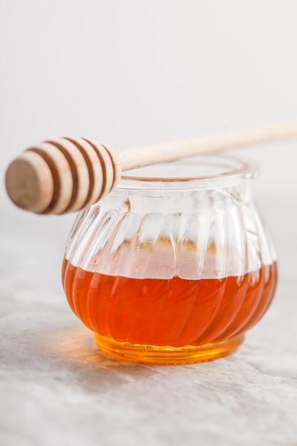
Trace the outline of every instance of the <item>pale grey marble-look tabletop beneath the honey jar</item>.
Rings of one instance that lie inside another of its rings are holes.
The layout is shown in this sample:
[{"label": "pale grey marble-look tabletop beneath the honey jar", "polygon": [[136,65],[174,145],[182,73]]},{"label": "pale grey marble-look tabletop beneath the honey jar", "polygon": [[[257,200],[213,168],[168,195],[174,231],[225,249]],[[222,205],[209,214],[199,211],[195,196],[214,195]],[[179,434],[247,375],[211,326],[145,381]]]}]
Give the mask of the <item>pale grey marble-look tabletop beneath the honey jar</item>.
[{"label": "pale grey marble-look tabletop beneath the honey jar", "polygon": [[261,200],[279,258],[269,311],[226,358],[157,366],[104,356],[71,313],[60,269],[74,216],[4,198],[1,446],[296,446],[296,202]]}]

